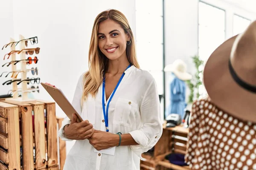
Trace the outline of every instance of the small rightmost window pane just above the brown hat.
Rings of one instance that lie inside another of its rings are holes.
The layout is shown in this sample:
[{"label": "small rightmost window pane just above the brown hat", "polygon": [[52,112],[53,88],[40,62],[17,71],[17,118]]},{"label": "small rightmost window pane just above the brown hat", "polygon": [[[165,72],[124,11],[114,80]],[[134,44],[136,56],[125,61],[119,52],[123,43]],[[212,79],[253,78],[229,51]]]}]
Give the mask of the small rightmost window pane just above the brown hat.
[{"label": "small rightmost window pane just above the brown hat", "polygon": [[251,23],[250,20],[234,14],[233,15],[233,36],[243,32],[250,25],[250,23]]}]

